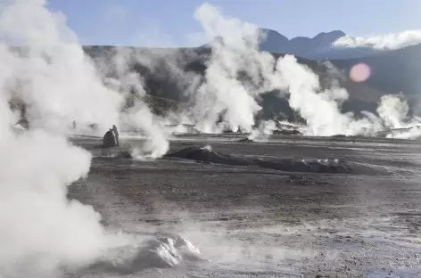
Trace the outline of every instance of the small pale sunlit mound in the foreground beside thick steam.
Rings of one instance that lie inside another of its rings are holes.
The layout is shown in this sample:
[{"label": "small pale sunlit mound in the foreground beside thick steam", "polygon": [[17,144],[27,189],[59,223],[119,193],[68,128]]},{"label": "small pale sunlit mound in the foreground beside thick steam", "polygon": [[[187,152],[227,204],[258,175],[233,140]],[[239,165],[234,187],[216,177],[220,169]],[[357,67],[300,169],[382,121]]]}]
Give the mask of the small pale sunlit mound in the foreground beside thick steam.
[{"label": "small pale sunlit mound in the foreground beside thick steam", "polygon": [[188,262],[204,261],[199,249],[177,234],[160,234],[156,238],[113,250],[89,272],[134,274],[151,268],[169,268]]}]

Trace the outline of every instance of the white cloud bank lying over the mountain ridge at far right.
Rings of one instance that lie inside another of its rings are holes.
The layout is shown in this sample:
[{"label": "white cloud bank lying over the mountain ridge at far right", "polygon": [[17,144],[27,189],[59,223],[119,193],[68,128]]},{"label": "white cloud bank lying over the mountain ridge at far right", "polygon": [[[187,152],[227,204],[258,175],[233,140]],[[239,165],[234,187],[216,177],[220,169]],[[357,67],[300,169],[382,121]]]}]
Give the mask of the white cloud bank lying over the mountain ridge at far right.
[{"label": "white cloud bank lying over the mountain ridge at far right", "polygon": [[376,50],[393,50],[421,43],[421,30],[407,30],[367,37],[340,37],[334,42],[337,47],[370,47]]}]

